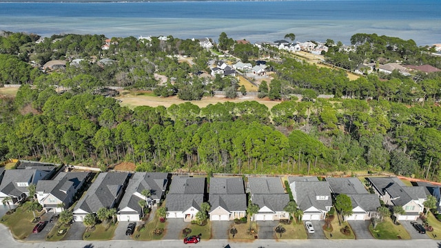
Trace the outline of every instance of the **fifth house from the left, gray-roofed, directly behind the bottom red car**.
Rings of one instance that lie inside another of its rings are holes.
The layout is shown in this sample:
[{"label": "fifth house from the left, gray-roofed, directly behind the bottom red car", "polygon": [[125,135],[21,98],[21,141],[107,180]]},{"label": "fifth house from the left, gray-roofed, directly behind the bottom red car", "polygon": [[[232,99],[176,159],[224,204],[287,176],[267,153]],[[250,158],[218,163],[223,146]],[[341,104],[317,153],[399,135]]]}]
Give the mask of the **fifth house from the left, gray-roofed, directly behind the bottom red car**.
[{"label": "fifth house from the left, gray-roofed, directly behind the bottom red car", "polygon": [[205,193],[205,178],[174,176],[165,197],[167,218],[183,218],[186,222],[196,220],[196,214],[201,211],[201,204],[205,200]]}]

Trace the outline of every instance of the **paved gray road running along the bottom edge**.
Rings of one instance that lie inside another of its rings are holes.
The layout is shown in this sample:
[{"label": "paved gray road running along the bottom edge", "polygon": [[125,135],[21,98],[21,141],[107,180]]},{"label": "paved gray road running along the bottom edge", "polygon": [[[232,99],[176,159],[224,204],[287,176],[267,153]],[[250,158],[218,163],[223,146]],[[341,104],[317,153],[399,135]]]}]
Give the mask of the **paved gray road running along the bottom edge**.
[{"label": "paved gray road running along the bottom edge", "polygon": [[192,248],[223,248],[229,245],[232,248],[264,247],[312,247],[312,248],[340,248],[340,247],[388,247],[388,248],[440,248],[441,242],[436,240],[255,240],[254,242],[232,242],[231,240],[209,240],[196,245],[184,245],[181,240],[159,241],[134,241],[134,240],[109,240],[109,241],[59,241],[59,242],[19,242],[10,235],[8,227],[0,225],[1,247],[14,248],[132,248],[143,247],[192,247]]}]

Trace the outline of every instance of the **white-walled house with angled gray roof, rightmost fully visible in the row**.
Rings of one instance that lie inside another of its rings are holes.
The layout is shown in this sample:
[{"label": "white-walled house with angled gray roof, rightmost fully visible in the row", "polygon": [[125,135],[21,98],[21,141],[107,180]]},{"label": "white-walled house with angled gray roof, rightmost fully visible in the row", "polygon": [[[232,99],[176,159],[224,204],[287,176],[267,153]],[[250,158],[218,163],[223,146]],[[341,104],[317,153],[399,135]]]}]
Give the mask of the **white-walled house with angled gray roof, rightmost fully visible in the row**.
[{"label": "white-walled house with angled gray roof, rightmost fully visible in the row", "polygon": [[398,220],[416,220],[424,210],[427,199],[424,187],[404,185],[396,177],[369,177],[367,180],[384,204],[402,206],[406,211]]}]

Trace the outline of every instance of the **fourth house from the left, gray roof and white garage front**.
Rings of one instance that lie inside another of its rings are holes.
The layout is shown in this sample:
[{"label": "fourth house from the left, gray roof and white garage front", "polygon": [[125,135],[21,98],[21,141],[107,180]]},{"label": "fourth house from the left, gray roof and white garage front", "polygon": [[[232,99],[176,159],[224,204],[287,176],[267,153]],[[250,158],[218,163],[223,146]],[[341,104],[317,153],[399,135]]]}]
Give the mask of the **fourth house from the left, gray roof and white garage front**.
[{"label": "fourth house from the left, gray roof and white garage front", "polygon": [[[146,201],[146,207],[157,205],[165,196],[165,189],[170,181],[168,173],[136,172],[129,180],[127,189],[118,207],[119,221],[139,221],[143,216],[143,207],[140,200]],[[143,191],[150,192],[150,196],[143,196]]]}]

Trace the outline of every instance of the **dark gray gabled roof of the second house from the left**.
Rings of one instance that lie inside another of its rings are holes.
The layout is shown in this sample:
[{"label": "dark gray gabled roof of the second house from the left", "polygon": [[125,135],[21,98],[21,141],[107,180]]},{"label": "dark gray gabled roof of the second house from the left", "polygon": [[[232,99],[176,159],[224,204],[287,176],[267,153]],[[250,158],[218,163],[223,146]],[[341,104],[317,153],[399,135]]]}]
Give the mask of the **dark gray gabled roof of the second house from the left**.
[{"label": "dark gray gabled roof of the second house from the left", "polygon": [[36,192],[52,194],[61,201],[68,197],[67,191],[77,187],[85,180],[90,172],[60,172],[53,180],[39,180]]}]

